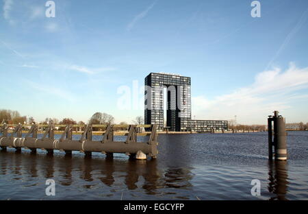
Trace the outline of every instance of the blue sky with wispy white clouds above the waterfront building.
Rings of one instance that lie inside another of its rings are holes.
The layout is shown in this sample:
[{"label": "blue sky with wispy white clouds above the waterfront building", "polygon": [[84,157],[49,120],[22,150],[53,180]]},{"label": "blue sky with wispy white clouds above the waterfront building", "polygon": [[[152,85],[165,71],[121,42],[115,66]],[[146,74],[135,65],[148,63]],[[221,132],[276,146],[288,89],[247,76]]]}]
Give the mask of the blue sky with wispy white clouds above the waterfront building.
[{"label": "blue sky with wispy white clouds above the waterfront building", "polygon": [[255,18],[251,0],[53,2],[47,17],[47,1],[0,0],[0,109],[131,123],[165,72],[192,78],[192,119],[308,122],[307,0],[259,1]]}]

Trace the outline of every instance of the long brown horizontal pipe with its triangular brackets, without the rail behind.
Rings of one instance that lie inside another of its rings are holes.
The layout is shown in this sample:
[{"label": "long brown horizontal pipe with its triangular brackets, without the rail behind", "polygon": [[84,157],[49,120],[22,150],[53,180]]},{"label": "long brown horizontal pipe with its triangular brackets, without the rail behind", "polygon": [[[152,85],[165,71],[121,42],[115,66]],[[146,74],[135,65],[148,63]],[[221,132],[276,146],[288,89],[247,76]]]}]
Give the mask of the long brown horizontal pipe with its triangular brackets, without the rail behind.
[{"label": "long brown horizontal pipe with its triangular brackets, without the rail behind", "polygon": [[[32,129],[34,130],[34,129]],[[148,142],[137,143],[136,141],[136,126],[131,125],[129,127],[129,135],[124,142],[114,141],[112,126],[108,126],[103,136],[102,141],[92,141],[92,128],[85,129],[86,133],[81,135],[79,141],[72,140],[71,126],[66,126],[65,132],[62,134],[61,139],[53,139],[53,126],[47,128],[42,139],[34,137],[13,137],[13,136],[0,136],[1,147],[14,147],[17,150],[21,147],[29,148],[30,150],[43,149],[47,150],[49,154],[53,153],[53,150],[64,150],[66,154],[71,154],[71,151],[85,152],[90,156],[91,152],[102,152],[103,154],[113,153],[125,153],[136,154],[139,150],[144,154],[148,154],[151,158],[156,158],[157,152],[157,130],[156,125],[153,125],[152,132]],[[47,138],[47,134],[49,137]],[[86,136],[86,139],[83,139]]]}]

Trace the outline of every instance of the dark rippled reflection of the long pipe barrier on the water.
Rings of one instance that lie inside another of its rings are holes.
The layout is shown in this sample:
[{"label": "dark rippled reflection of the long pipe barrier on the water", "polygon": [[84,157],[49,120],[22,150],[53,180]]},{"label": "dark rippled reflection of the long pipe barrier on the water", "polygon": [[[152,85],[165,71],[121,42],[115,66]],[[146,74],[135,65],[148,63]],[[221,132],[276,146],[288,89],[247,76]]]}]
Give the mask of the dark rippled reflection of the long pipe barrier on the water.
[{"label": "dark rippled reflection of the long pipe barrier on the water", "polygon": [[[55,154],[25,153],[16,154],[13,151],[1,152],[2,175],[14,175],[18,179],[53,178],[60,185],[69,187],[74,182],[81,183],[84,189],[97,186],[95,181],[103,185],[99,187],[116,187],[119,180],[124,177],[123,184],[129,190],[142,188],[146,194],[155,195],[157,189],[191,187],[192,178],[189,169],[167,169],[166,172],[157,169],[157,160],[114,160],[99,158],[82,158],[81,156],[62,156]],[[77,174],[76,174],[77,173]],[[77,177],[76,177],[77,175]],[[42,179],[40,179],[42,180]],[[84,180],[84,182],[80,182]],[[42,180],[44,182],[44,180]],[[138,182],[142,182],[139,185]],[[35,182],[34,185],[37,185]],[[25,185],[29,187],[29,185]],[[170,191],[169,191],[170,193]],[[175,193],[174,193],[175,194]],[[78,198],[75,198],[78,199]]]}]

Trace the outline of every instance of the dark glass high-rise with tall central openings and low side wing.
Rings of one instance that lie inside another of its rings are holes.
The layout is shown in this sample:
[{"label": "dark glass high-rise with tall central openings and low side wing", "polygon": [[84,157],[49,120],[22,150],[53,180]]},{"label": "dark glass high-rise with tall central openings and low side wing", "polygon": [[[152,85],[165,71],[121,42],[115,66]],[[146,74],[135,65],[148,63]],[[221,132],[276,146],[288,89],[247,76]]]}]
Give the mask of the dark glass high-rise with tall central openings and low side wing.
[{"label": "dark glass high-rise with tall central openings and low side wing", "polygon": [[[207,132],[227,130],[227,121],[203,121],[191,119],[191,80],[188,77],[170,73],[150,73],[144,79],[144,122],[157,124],[164,130],[164,108],[166,126],[170,131]],[[166,88],[166,106],[164,106]]]}]

